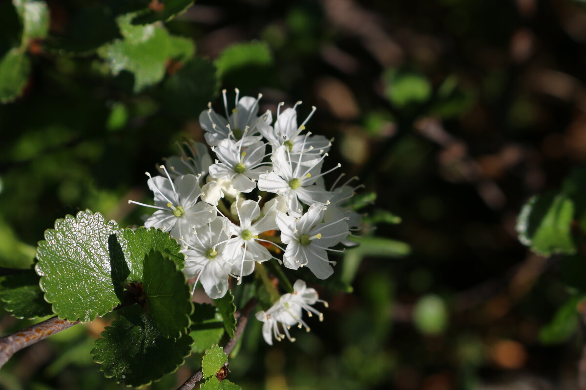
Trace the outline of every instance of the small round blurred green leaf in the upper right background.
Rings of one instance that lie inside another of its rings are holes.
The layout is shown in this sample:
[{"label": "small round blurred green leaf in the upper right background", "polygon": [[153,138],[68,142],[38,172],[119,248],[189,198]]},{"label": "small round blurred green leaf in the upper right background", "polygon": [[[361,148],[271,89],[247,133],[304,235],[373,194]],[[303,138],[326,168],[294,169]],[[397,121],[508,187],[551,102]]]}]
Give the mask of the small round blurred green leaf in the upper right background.
[{"label": "small round blurred green leaf in the upper right background", "polygon": [[384,72],[385,95],[397,108],[421,104],[431,96],[431,84],[420,73],[389,69]]}]

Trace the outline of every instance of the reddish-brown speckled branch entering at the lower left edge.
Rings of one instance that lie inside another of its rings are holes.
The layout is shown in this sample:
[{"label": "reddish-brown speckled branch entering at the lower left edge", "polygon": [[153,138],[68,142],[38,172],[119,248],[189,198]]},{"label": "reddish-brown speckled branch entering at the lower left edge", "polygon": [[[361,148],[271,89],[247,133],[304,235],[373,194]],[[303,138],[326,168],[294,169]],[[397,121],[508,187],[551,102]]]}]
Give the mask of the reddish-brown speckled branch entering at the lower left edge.
[{"label": "reddish-brown speckled branch entering at the lower left edge", "polygon": [[67,320],[59,319],[54,316],[38,324],[21,329],[16,333],[9,334],[0,338],[0,368],[12,357],[17,351],[22,348],[35,344],[36,342],[46,339],[52,334],[59,333],[73,325],[78,324],[79,321],[69,322]]}]

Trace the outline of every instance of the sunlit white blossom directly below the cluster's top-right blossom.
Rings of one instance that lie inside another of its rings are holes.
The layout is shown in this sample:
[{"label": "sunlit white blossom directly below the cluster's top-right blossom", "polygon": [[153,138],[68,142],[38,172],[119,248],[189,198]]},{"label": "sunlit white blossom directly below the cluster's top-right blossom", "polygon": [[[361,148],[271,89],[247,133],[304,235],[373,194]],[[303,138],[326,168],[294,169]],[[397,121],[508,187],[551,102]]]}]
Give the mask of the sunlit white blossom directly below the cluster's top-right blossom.
[{"label": "sunlit white blossom directly below the cluster's top-right blossom", "polygon": [[285,197],[289,215],[292,216],[301,216],[303,210],[301,202],[311,205],[313,203],[325,204],[329,201],[332,196],[331,192],[315,185],[315,182],[318,178],[340,167],[338,164],[335,168],[320,174],[322,160],[328,156],[328,153],[312,160],[309,167],[301,164],[302,156],[303,154],[300,153],[298,161],[295,163],[292,161],[287,147],[279,147],[271,156],[273,171],[261,174],[258,179],[258,189]]}]

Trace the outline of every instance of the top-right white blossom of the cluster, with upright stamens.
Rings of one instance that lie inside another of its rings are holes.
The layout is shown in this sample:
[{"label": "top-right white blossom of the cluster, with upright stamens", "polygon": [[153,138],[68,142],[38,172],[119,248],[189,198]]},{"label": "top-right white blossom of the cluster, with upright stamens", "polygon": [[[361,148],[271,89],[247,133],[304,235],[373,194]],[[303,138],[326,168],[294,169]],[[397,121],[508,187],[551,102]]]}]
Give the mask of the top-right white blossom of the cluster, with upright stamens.
[{"label": "top-right white blossom of the cluster, with upright stamens", "polygon": [[324,136],[311,136],[311,133],[307,133],[305,136],[301,135],[301,132],[305,130],[306,123],[314,115],[315,107],[312,107],[311,113],[304,122],[297,126],[296,109],[299,104],[301,102],[297,102],[293,108],[287,108],[281,112],[283,103],[280,103],[274,127],[261,126],[259,129],[265,139],[271,143],[273,151],[280,146],[286,146],[291,156],[298,156],[299,153],[302,153],[302,163],[305,163],[305,161],[318,158],[320,154],[328,151],[332,143]]}]

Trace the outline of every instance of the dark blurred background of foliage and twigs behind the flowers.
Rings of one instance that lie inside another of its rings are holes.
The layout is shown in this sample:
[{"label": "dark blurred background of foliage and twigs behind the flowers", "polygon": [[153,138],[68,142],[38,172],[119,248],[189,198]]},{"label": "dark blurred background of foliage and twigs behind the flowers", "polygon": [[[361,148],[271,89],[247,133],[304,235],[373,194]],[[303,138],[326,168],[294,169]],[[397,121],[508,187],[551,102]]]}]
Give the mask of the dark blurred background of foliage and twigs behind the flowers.
[{"label": "dark blurred background of foliage and twigs behind the flowers", "polygon": [[[96,4],[47,3],[56,34]],[[577,322],[559,342],[540,337],[568,297],[556,259],[522,246],[515,222],[530,196],[559,187],[586,160],[585,5],[197,1],[166,23],[210,60],[233,43],[267,43],[272,61],[225,74],[222,88],[262,92],[261,110],[302,100],[301,118],[315,105],[308,130],[335,137],[329,164],[340,161],[377,193],[364,210],[403,220],[363,234],[412,249],[404,258],[364,257],[350,272],[353,294],[320,289],[330,302],[325,321],[314,318],[294,344],[266,346],[255,322],[231,361],[233,382],[270,390],[578,388]],[[134,94],[132,75],[111,77],[95,55],[38,53],[32,61],[23,96],[0,106],[7,266],[30,262],[43,230],[67,213],[90,208],[122,226],[141,223],[144,209],[127,199],[150,196],[144,171],[176,153],[173,141],[203,139],[197,116],[206,102],[178,114],[161,85]],[[0,388],[118,388],[88,354],[107,322],[22,351],[0,371]],[[0,330],[27,323],[4,316]],[[197,362],[152,388],[172,388]]]}]

